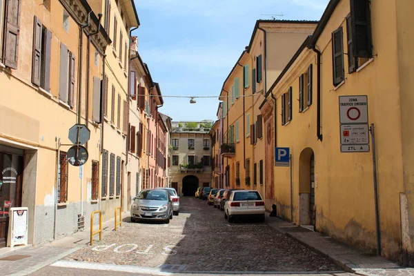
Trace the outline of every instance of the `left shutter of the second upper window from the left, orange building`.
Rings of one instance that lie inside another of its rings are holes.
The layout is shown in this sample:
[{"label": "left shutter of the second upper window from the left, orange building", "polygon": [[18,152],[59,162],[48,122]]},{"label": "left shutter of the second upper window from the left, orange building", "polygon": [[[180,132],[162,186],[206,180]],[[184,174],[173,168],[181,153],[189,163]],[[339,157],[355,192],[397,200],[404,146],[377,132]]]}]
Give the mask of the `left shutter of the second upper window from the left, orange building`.
[{"label": "left shutter of the second upper window from the left, orange building", "polygon": [[33,23],[33,52],[32,52],[32,83],[40,86],[41,79],[41,37],[43,24],[34,16]]}]

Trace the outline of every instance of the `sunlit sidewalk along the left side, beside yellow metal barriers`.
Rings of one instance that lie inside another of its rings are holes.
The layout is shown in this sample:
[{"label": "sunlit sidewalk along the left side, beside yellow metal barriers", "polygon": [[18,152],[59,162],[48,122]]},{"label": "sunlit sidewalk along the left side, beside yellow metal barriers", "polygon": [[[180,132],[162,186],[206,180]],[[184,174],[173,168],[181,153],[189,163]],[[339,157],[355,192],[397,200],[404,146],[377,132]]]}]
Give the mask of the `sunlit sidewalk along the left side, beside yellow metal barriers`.
[{"label": "sunlit sidewalk along the left side, beside yellow metal barriers", "polygon": [[[122,217],[123,219],[129,217],[129,212],[122,213]],[[94,231],[99,230],[95,227]],[[102,224],[102,239],[114,228],[114,218],[105,221]],[[94,240],[97,239],[99,239],[99,234],[94,235]],[[0,274],[10,276],[28,275],[74,253],[89,243],[90,228],[86,228],[81,232],[73,233],[49,244],[0,248]]]}]

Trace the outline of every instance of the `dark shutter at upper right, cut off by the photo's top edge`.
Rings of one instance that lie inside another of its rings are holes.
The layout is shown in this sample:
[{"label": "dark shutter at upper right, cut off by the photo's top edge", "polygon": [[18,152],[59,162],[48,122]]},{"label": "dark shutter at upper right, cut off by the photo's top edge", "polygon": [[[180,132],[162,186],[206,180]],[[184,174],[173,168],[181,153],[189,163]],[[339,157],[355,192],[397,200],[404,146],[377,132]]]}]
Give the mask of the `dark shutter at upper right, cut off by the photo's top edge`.
[{"label": "dark shutter at upper right, cut off by the photo's top edge", "polygon": [[369,0],[351,0],[353,56],[371,58],[371,12]]}]

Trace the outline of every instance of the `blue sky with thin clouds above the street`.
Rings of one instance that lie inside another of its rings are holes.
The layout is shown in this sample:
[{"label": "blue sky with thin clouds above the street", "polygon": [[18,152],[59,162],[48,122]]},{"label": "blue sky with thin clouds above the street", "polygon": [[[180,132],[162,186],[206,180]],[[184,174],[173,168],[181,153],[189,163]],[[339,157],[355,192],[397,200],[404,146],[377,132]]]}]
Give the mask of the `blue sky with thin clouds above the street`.
[{"label": "blue sky with thin clouds above the street", "polygon": [[[258,19],[319,20],[328,0],[135,0],[138,51],[173,121],[217,119],[219,94]],[[283,16],[281,16],[283,15]],[[179,96],[179,97],[166,97]],[[196,98],[197,103],[190,104]],[[184,98],[183,98],[184,97]]]}]

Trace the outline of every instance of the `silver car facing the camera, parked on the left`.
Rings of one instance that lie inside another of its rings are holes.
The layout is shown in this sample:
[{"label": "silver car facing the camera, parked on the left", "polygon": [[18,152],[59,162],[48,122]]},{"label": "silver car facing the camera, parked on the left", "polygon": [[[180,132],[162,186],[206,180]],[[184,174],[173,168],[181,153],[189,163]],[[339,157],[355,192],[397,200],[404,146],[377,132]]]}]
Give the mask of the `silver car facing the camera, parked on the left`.
[{"label": "silver car facing the camera, parked on the left", "polygon": [[131,206],[131,221],[159,220],[167,224],[172,219],[172,198],[164,189],[146,189],[135,197]]}]

